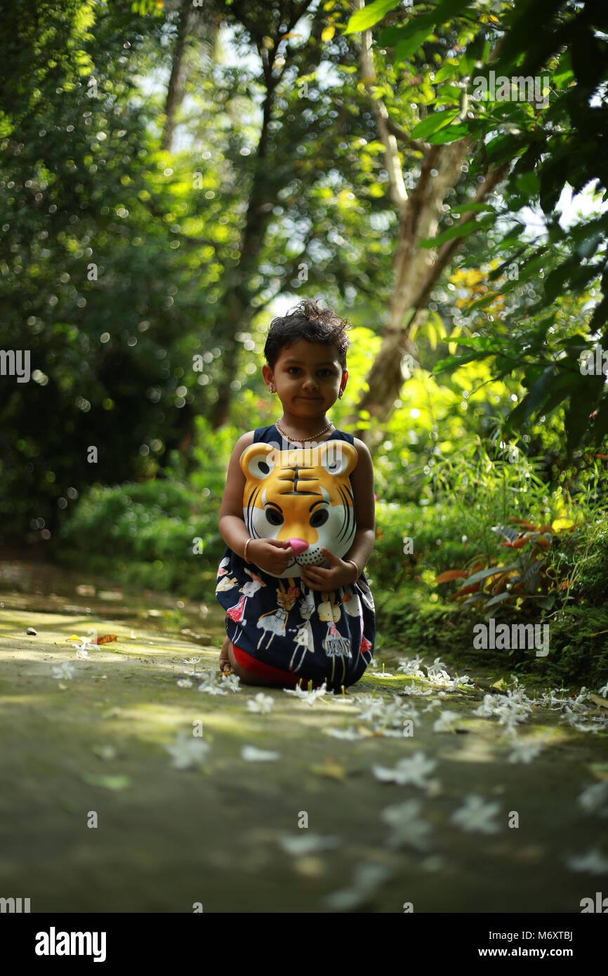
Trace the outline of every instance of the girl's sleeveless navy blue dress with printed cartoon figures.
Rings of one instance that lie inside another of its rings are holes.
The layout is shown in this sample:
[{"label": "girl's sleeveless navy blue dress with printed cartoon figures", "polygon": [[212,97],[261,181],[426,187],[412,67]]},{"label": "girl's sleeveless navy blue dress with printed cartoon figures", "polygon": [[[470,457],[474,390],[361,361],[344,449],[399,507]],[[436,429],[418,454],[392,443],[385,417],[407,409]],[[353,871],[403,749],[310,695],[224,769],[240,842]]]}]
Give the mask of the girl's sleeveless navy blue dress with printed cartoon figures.
[{"label": "girl's sleeveless navy blue dress with printed cartoon figures", "polygon": [[[334,430],[328,440],[354,446],[354,437],[344,430]],[[258,427],[254,441],[280,450],[301,446],[286,442],[274,424]],[[310,590],[300,577],[280,584],[226,546],[216,596],[226,611],[229,640],[265,665],[301,675],[304,686],[312,679],[339,690],[358,681],[372,660],[376,638],[374,597],[365,573],[338,590]]]}]

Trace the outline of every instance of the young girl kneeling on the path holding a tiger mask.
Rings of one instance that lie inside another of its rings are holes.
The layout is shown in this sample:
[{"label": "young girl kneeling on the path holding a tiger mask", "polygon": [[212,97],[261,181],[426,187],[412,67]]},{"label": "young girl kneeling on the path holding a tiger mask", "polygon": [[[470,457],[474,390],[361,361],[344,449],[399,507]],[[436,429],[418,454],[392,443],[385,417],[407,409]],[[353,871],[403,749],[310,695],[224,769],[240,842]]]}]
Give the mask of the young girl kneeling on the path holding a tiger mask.
[{"label": "young girl kneeling on the path holding a tiger mask", "polygon": [[[348,379],[346,327],[334,311],[309,300],[272,321],[262,372],[283,414],[276,424],[243,434],[232,452],[216,596],[226,611],[220,669],[244,684],[302,682],[305,688],[326,681],[339,691],[359,680],[373,656],[374,598],[363,572],[375,539],[372,459],[363,441],[327,418]],[[343,446],[323,448],[328,441]],[[254,443],[260,449],[246,453]],[[274,449],[292,454],[274,455]],[[307,457],[321,458],[316,467],[306,464],[306,449]],[[338,466],[327,460],[332,451],[342,454]],[[283,459],[273,480],[268,455]],[[294,505],[305,513],[297,527],[307,540],[291,538],[293,518],[290,532],[284,512]],[[342,557],[322,546],[325,522],[326,538],[331,525],[341,530],[334,538],[342,540]]]}]

